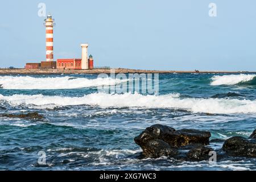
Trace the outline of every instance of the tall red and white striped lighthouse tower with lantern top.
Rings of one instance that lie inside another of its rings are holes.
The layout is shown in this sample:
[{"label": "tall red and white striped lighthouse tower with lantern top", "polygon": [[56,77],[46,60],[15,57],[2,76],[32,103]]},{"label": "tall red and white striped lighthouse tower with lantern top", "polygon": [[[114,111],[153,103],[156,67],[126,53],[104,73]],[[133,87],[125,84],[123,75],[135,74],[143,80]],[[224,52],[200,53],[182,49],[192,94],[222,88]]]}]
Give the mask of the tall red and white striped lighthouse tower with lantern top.
[{"label": "tall red and white striped lighthouse tower with lantern top", "polygon": [[48,14],[44,20],[46,27],[46,61],[53,61],[53,26],[55,26],[52,15]]}]

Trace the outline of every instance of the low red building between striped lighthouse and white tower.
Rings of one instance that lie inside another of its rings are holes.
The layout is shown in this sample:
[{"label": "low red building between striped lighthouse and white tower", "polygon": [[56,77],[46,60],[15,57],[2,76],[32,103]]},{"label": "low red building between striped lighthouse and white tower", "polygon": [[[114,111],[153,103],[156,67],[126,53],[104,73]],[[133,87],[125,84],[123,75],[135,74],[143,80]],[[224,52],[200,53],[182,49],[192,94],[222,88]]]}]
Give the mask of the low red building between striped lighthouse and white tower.
[{"label": "low red building between striped lighthouse and white tower", "polygon": [[57,69],[82,69],[82,59],[57,59]]}]

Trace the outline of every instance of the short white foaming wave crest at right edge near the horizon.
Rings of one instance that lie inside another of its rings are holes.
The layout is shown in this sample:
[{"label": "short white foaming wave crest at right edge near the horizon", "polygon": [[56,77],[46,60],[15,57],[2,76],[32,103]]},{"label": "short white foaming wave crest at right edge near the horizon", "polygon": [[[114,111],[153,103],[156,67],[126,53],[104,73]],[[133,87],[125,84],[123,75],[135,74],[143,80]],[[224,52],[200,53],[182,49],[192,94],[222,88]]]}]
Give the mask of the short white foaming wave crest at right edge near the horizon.
[{"label": "short white foaming wave crest at right edge near the horizon", "polygon": [[256,75],[223,75],[223,76],[213,76],[210,85],[236,85],[240,82],[247,82],[253,80]]}]

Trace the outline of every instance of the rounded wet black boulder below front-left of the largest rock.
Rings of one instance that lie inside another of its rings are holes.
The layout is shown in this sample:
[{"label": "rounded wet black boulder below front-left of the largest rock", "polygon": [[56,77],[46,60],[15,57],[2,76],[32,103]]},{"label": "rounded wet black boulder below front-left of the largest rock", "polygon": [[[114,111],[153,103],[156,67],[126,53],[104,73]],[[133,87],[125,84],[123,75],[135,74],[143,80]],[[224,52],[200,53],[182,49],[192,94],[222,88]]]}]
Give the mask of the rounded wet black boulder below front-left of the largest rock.
[{"label": "rounded wet black boulder below front-left of the largest rock", "polygon": [[150,140],[142,147],[143,155],[147,158],[159,158],[160,156],[175,156],[178,151],[171,148],[168,143],[163,140]]}]

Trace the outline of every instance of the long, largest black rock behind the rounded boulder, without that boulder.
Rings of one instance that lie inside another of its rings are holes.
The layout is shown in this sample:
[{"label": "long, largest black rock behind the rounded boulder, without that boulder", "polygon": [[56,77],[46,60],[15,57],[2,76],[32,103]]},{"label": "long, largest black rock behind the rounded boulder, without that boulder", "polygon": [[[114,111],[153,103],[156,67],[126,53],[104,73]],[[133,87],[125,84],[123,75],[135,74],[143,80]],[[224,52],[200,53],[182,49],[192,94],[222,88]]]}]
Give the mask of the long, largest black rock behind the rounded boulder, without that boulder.
[{"label": "long, largest black rock behind the rounded boulder, without that boulder", "polygon": [[144,130],[138,137],[134,138],[135,143],[143,146],[150,140],[160,139],[171,147],[187,146],[188,144],[209,144],[210,133],[200,130],[175,130],[172,127],[153,125]]}]

